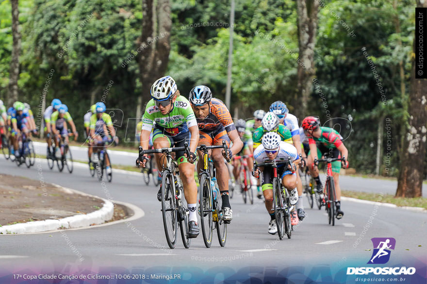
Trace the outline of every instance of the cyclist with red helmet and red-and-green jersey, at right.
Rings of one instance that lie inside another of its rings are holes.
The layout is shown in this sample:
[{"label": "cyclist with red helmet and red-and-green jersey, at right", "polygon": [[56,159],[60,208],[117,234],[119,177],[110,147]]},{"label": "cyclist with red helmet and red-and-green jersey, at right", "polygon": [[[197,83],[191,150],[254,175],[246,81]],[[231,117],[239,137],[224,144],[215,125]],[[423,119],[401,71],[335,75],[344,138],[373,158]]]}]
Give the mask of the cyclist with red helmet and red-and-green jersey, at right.
[{"label": "cyclist with red helmet and red-and-green jersey, at right", "polygon": [[317,169],[317,165],[313,164],[314,160],[318,157],[321,158],[322,156],[327,158],[339,158],[341,154],[345,157],[345,164],[344,161],[332,162],[332,176],[334,178],[335,191],[337,194],[337,200],[335,201],[337,207],[336,218],[341,219],[344,216],[344,212],[341,210],[341,188],[339,176],[341,166],[348,168],[348,150],[345,148],[343,141],[341,141],[341,135],[332,128],[320,126],[320,120],[318,118],[306,117],[302,121],[302,128],[309,138],[310,152],[307,163],[310,165],[310,172],[316,181],[317,192],[319,194],[323,193],[322,183],[319,179],[319,170]]}]

